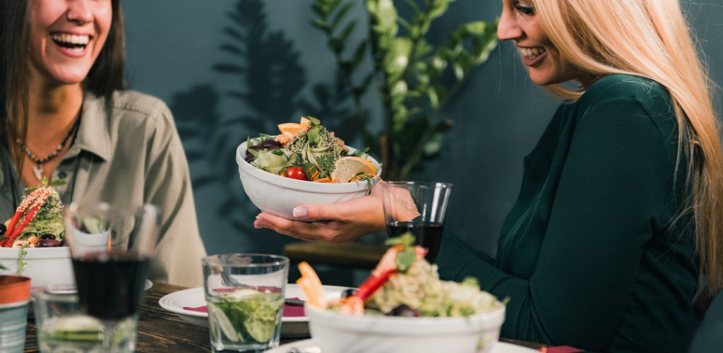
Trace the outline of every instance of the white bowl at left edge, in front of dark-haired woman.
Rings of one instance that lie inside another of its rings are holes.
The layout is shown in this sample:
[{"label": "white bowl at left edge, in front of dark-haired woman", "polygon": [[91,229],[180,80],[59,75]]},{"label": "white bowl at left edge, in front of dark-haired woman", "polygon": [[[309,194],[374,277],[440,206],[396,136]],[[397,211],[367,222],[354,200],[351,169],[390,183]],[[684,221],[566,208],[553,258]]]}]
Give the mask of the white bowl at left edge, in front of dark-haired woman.
[{"label": "white bowl at left edge, in front of dark-haired woman", "polygon": [[[27,255],[22,258],[27,265],[22,269],[22,276],[30,277],[30,286],[43,288],[48,284],[74,286],[73,267],[70,262],[68,247],[35,247],[25,248]],[[17,274],[20,249],[0,247],[0,275]]]}]

